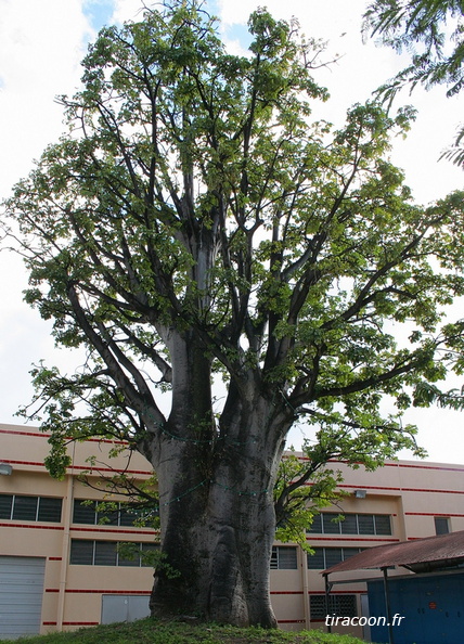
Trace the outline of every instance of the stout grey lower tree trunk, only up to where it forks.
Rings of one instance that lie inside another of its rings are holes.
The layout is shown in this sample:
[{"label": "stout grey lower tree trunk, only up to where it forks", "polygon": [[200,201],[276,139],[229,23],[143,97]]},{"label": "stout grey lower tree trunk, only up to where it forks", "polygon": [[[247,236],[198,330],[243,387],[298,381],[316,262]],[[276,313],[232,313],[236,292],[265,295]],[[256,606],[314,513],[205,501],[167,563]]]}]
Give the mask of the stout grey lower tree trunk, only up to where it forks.
[{"label": "stout grey lower tree trunk, only up to where it forks", "polygon": [[269,410],[263,399],[253,409],[235,405],[212,449],[207,441],[164,440],[157,466],[162,550],[179,576],[155,571],[153,615],[276,626],[269,568],[282,445],[266,434]]}]

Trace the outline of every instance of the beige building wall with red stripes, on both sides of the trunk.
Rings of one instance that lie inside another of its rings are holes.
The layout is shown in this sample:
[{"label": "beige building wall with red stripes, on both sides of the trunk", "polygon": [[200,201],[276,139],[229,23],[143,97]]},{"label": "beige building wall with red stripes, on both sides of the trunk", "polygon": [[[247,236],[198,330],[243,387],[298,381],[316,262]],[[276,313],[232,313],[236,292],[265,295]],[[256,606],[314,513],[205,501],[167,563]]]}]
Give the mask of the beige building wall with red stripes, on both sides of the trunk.
[{"label": "beige building wall with red stripes, on both sides of the trunk", "polygon": [[[99,492],[78,481],[77,476],[88,469],[86,459],[94,455],[99,472],[108,467],[109,441],[78,443],[73,448],[73,466],[63,481],[53,480],[43,467],[48,453],[47,436],[34,427],[0,424],[0,462],[10,463],[11,476],[0,476],[0,493],[63,498],[61,524],[15,521],[0,519],[0,556],[46,557],[46,580],[42,605],[42,632],[70,630],[82,624],[99,623],[102,594],[150,594],[150,568],[117,566],[69,565],[70,539],[109,541],[154,540],[154,532],[140,528],[86,526],[72,523],[74,499],[96,499]],[[127,455],[111,465],[128,468],[133,476],[150,475],[146,461],[139,454]],[[435,516],[450,519],[452,531],[464,530],[464,466],[427,462],[388,463],[366,473],[334,463],[344,473],[341,488],[347,497],[339,508],[332,512],[358,514],[388,514],[392,520],[391,536],[308,534],[313,548],[370,548],[405,539],[435,534]],[[96,480],[96,478],[95,478]],[[366,491],[365,499],[356,499],[355,490]],[[331,508],[327,508],[331,511]],[[298,548],[296,570],[271,570],[272,604],[281,628],[298,630],[311,626],[323,628],[321,621],[310,621],[311,595],[324,591],[320,570],[308,570],[306,554]],[[348,574],[346,578],[350,578]],[[351,574],[351,578],[352,578]],[[357,577],[372,577],[360,572]],[[339,579],[343,575],[338,576]],[[365,584],[336,587],[334,592],[351,593],[359,597]],[[360,615],[360,613],[359,613]],[[353,631],[360,635],[360,629]]]}]

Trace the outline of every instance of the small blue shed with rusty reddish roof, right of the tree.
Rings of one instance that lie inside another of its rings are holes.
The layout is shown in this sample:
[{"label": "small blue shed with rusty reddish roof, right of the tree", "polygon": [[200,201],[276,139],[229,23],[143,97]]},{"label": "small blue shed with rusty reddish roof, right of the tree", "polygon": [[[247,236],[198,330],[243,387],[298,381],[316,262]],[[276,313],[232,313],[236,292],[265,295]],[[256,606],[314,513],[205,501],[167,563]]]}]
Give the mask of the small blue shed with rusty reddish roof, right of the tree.
[{"label": "small blue shed with rusty reddish roof, right of the tree", "polygon": [[[404,568],[413,575],[398,575]],[[370,548],[327,568],[326,594],[336,572],[379,569],[366,581],[371,641],[387,644],[457,644],[464,641],[464,531]],[[346,580],[344,580],[346,582]],[[328,602],[327,602],[328,606]]]}]

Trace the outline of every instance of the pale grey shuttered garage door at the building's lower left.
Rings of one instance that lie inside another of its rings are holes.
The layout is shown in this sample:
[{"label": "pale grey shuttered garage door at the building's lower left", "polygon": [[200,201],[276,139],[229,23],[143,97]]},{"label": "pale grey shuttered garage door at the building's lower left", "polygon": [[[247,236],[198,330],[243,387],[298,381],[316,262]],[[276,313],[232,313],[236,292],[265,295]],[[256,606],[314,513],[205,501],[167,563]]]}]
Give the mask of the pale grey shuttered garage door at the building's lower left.
[{"label": "pale grey shuttered garage door at the building's lower left", "polygon": [[0,640],[39,633],[44,571],[42,557],[0,556]]}]

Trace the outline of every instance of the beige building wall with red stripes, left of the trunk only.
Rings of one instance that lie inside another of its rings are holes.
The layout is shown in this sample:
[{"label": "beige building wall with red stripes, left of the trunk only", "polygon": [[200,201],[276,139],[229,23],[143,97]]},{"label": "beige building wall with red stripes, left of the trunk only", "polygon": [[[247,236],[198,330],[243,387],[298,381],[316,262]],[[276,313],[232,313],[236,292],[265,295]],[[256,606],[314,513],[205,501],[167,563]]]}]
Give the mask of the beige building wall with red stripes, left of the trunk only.
[{"label": "beige building wall with red stripes, left of the trunk only", "polygon": [[[78,476],[108,473],[109,467],[126,469],[139,478],[150,471],[140,454],[109,459],[111,441],[87,441],[72,449],[73,465],[64,480],[52,479],[43,466],[48,454],[47,436],[35,427],[0,424],[0,462],[10,463],[11,476],[0,477],[0,493],[63,499],[61,524],[0,519],[0,556],[46,557],[46,579],[41,632],[74,630],[100,623],[102,594],[150,594],[150,568],[69,565],[72,539],[153,542],[150,529],[117,526],[73,525],[74,499],[99,499],[102,493],[82,485]],[[98,465],[89,469],[93,455]],[[115,498],[116,499],[116,498]]]}]

